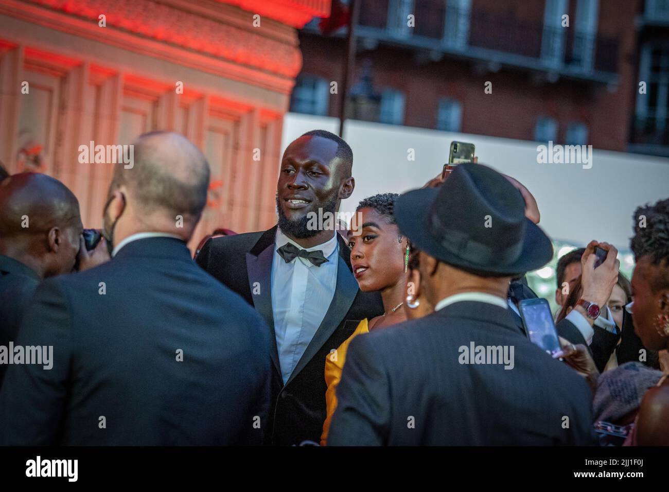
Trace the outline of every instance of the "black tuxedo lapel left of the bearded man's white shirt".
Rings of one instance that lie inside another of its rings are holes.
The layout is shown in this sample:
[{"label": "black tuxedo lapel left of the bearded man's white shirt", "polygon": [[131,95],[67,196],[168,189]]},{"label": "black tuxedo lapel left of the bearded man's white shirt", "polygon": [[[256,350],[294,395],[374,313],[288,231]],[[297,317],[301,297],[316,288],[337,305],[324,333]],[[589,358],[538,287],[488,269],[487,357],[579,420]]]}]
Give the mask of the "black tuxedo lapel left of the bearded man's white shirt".
[{"label": "black tuxedo lapel left of the bearded man's white shirt", "polygon": [[[271,241],[269,245],[266,245],[269,239],[266,237],[268,233],[271,233]],[[251,289],[253,305],[256,311],[265,319],[268,327],[270,327],[272,362],[276,370],[281,374],[279,354],[276,348],[276,334],[274,333],[274,314],[272,313],[272,258],[274,258],[275,234],[276,228],[270,229],[261,236],[251,252],[246,253],[246,272],[249,278],[249,289]],[[259,254],[254,254],[254,251],[258,251],[262,246],[265,246],[265,248],[260,250]],[[258,283],[256,284],[256,282]],[[254,291],[258,292],[258,294],[254,294]]]}]

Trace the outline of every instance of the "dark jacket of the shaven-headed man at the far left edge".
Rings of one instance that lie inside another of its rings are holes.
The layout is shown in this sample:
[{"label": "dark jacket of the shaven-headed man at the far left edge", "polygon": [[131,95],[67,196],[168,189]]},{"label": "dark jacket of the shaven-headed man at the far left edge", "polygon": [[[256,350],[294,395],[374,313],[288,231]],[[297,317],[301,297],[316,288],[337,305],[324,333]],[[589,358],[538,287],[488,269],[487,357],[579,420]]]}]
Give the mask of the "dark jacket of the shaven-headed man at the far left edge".
[{"label": "dark jacket of the shaven-headed man at the far left edge", "polygon": [[[16,341],[21,319],[39,285],[39,275],[23,263],[0,254],[0,345]],[[0,364],[0,387],[7,365]]]}]

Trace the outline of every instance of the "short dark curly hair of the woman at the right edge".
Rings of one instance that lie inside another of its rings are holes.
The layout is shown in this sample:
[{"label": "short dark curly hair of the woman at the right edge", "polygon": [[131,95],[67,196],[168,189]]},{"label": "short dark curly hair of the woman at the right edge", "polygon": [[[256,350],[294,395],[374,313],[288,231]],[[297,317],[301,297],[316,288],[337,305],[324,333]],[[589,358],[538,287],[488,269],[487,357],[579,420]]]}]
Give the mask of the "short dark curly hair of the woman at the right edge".
[{"label": "short dark curly hair of the woman at the right edge", "polygon": [[[655,205],[639,207],[634,212],[634,259],[648,257],[650,262],[669,270],[669,198]],[[658,275],[654,291],[669,288],[668,274]]]}]

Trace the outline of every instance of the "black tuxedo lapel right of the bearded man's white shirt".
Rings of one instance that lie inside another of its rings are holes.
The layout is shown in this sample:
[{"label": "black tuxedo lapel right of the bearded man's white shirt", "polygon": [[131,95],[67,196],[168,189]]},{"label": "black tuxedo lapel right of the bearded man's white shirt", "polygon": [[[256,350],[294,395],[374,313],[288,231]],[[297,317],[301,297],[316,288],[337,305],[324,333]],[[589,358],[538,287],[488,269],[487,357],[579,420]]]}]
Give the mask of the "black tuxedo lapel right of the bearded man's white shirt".
[{"label": "black tuxedo lapel right of the bearded man's white shirt", "polygon": [[349,309],[351,309],[351,305],[358,293],[358,282],[351,273],[350,250],[341,237],[339,237],[339,234],[335,234],[339,238],[339,264],[337,265],[337,286],[334,288],[334,296],[323,321],[321,321],[318,330],[316,330],[314,337],[309,342],[309,345],[307,345],[300,361],[298,361],[292,374],[290,374],[286,385],[290,384],[312,357],[316,355],[316,352],[320,350],[320,347],[330,338],[332,333],[334,333],[334,330],[337,329],[349,312]]}]

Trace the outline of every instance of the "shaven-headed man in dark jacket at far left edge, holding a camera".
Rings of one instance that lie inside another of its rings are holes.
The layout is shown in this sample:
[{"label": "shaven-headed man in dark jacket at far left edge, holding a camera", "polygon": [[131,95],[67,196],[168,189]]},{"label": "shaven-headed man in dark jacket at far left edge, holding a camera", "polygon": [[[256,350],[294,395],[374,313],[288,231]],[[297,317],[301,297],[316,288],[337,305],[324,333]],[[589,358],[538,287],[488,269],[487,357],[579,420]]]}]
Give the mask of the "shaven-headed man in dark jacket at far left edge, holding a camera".
[{"label": "shaven-headed man in dark jacket at far left edge, holding a camera", "polygon": [[19,173],[0,183],[0,346],[16,341],[41,279],[72,270],[81,233],[79,202],[58,179]]}]

